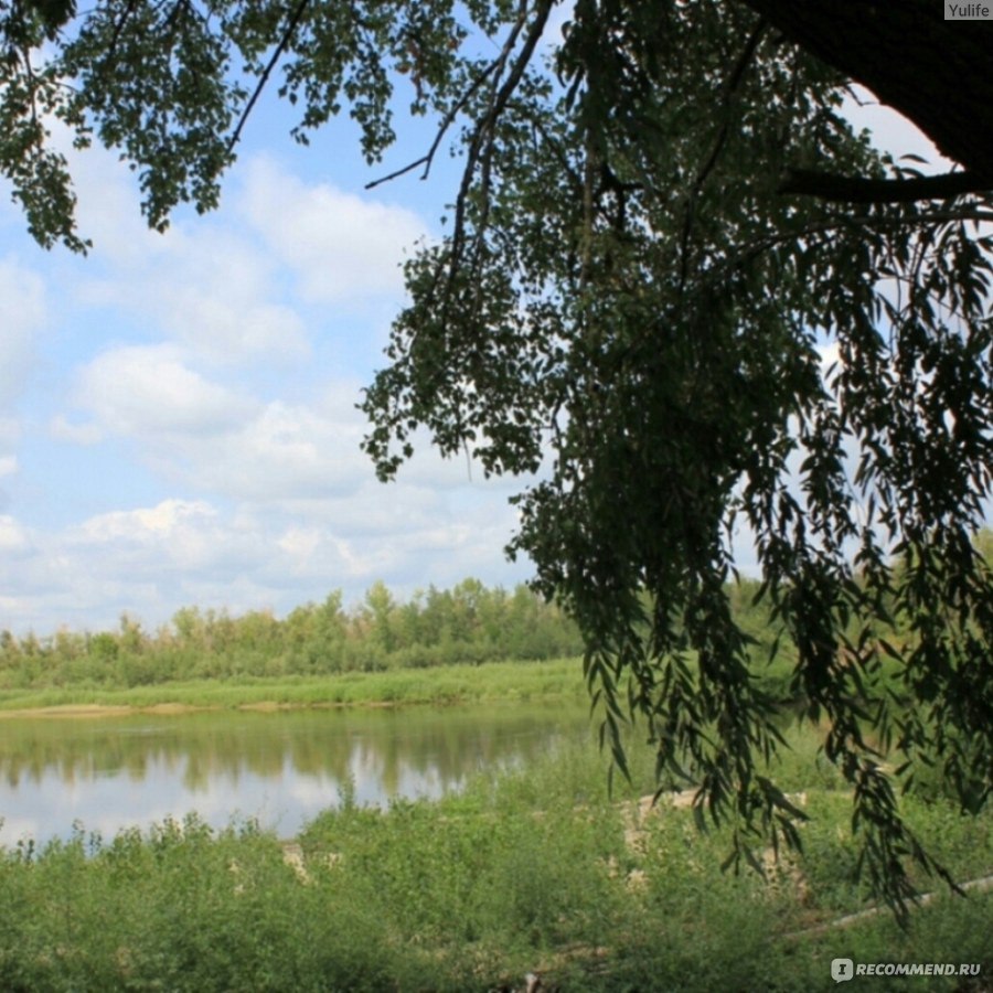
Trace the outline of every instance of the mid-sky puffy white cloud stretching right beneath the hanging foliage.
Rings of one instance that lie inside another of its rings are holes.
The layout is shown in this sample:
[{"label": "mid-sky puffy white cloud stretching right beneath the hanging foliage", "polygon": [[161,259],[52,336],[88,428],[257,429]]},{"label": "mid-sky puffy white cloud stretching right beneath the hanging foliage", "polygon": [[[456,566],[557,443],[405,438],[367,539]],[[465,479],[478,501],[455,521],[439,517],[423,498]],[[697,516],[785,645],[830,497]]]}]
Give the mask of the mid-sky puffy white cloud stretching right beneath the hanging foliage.
[{"label": "mid-sky puffy white cloud stretching right beneath the hanging foliage", "polygon": [[263,403],[209,378],[172,346],[125,346],[82,371],[76,398],[88,419],[56,419],[53,431],[65,440],[129,438],[146,465],[205,493],[348,520],[363,533],[425,525],[434,491],[519,488],[513,479],[483,483],[478,467],[444,460],[425,442],[402,471],[405,501],[392,500],[361,449],[367,426],[351,382],[325,383],[311,404]]}]

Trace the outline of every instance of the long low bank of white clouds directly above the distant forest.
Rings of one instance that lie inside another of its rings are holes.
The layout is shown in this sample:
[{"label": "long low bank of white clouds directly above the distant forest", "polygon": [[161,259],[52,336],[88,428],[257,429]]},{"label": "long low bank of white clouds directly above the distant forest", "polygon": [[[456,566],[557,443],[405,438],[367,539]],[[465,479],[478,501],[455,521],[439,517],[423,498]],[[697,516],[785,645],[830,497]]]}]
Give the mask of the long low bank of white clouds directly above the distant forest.
[{"label": "long low bank of white clouds directly above the distant forest", "polygon": [[[356,527],[363,502],[377,504],[377,528]],[[419,513],[404,513],[418,502]],[[290,511],[169,498],[42,530],[0,516],[0,588],[11,591],[0,627],[93,630],[128,612],[153,628],[185,605],[285,615],[338,588],[356,602],[376,579],[408,596],[467,575],[504,584],[527,575],[525,564],[502,562],[514,522],[496,494],[479,494],[468,513],[403,485],[340,506],[335,519],[319,503]],[[389,508],[398,510],[392,527]]]}]

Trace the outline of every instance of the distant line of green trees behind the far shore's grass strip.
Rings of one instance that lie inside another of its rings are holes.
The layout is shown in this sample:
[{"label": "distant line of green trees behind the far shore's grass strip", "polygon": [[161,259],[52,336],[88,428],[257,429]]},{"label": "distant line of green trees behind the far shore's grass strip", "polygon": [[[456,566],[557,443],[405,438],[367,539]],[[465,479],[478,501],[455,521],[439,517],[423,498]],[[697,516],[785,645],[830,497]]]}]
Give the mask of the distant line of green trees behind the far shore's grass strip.
[{"label": "distant line of green trees behind the far shore's grass strip", "polygon": [[115,631],[0,631],[0,690],[139,686],[173,680],[319,675],[386,669],[540,661],[578,655],[576,626],[526,586],[489,589],[465,579],[399,602],[375,583],[345,609],[340,590],[279,620],[184,607],[146,631],[125,615]]}]

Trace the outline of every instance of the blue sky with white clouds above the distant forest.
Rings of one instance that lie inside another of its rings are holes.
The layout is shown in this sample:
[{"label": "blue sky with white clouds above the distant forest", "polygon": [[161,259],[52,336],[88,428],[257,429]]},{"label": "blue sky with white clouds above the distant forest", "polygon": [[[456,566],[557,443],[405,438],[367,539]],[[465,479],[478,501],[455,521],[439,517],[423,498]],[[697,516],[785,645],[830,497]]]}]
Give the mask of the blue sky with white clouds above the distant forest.
[{"label": "blue sky with white clouds above the distant forest", "polygon": [[[855,113],[884,147],[933,158],[895,115]],[[38,247],[0,191],[0,630],[530,577],[503,554],[526,480],[423,447],[382,484],[360,450],[399,266],[439,235],[457,163],[366,191],[424,153],[427,126],[370,168],[349,121],[309,148],[293,122],[264,100],[220,209],[166,234],[115,153],[74,153],[85,258]]]}]

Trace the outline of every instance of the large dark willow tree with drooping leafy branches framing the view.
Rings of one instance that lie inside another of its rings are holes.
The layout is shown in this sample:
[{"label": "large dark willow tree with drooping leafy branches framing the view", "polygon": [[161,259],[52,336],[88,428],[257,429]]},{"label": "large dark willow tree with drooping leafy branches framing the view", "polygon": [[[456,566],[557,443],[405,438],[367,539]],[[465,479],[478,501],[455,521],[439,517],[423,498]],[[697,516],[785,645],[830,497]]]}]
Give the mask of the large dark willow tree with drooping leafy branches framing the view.
[{"label": "large dark willow tree with drooping leafy branches framing the view", "polygon": [[[156,226],[214,205],[270,79],[300,140],[349,105],[371,160],[397,87],[435,115],[389,178],[451,143],[462,179],[366,393],[380,476],[425,429],[490,473],[544,467],[510,553],[579,622],[616,759],[642,722],[660,782],[698,786],[745,857],[796,842],[799,814],[768,775],[781,701],[729,609],[750,545],[796,647],[791,695],[825,724],[865,866],[900,907],[905,856],[937,866],[882,754],[904,783],[937,762],[970,811],[993,775],[993,578],[971,543],[993,64],[987,24],[932,7],[577,0],[558,39],[551,0],[103,0],[78,19],[21,0],[0,7],[0,163],[34,235],[78,248],[46,115],[122,150]],[[959,167],[874,150],[842,113],[853,82]]]}]

